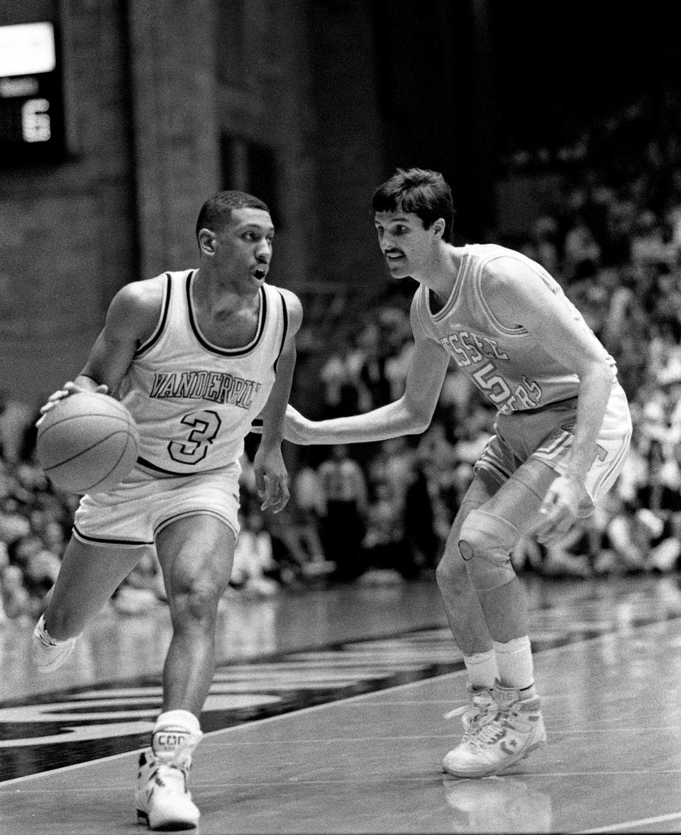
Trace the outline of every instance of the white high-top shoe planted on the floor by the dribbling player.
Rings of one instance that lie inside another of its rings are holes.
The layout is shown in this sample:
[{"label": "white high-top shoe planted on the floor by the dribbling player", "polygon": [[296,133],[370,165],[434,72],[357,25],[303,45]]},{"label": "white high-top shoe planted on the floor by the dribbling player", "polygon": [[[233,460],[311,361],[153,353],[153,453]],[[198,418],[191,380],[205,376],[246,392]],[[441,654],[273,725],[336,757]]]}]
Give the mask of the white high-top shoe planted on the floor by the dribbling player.
[{"label": "white high-top shoe planted on the floor by the dribbling player", "polygon": [[201,732],[183,727],[154,731],[151,748],[139,755],[137,821],[149,829],[194,829],[199,809],[187,787],[191,755]]}]

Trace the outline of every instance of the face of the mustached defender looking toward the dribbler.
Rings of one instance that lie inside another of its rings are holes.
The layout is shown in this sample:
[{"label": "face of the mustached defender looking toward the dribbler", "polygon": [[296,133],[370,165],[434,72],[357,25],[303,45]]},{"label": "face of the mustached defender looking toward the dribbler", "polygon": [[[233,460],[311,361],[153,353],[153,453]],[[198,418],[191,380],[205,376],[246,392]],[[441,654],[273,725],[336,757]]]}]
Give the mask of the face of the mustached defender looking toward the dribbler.
[{"label": "face of the mustached defender looking toward the dribbler", "polygon": [[418,215],[411,212],[376,212],[378,244],[392,278],[416,277],[428,262],[434,237]]}]

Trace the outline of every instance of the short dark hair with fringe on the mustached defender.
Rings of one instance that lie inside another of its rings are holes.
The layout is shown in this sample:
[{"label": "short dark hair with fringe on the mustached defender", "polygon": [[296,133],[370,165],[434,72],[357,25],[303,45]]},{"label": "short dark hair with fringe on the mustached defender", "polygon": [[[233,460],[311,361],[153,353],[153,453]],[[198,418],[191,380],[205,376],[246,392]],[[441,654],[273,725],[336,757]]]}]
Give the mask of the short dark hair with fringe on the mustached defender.
[{"label": "short dark hair with fringe on the mustached defender", "polygon": [[451,189],[439,171],[423,168],[398,168],[374,192],[371,209],[404,211],[417,215],[428,229],[441,217],[445,221],[444,239],[451,241],[454,229],[454,205]]}]

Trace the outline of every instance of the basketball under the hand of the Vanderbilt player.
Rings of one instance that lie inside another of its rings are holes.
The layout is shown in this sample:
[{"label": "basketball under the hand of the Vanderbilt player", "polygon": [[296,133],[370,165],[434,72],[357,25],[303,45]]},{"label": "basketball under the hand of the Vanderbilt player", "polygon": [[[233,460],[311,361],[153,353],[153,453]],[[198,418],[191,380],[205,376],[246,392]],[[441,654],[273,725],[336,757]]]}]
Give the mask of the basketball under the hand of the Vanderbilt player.
[{"label": "basketball under the hand of the Vanderbilt player", "polygon": [[123,403],[96,392],[64,397],[38,426],[38,462],[55,487],[103,493],[133,468],[139,434]]}]

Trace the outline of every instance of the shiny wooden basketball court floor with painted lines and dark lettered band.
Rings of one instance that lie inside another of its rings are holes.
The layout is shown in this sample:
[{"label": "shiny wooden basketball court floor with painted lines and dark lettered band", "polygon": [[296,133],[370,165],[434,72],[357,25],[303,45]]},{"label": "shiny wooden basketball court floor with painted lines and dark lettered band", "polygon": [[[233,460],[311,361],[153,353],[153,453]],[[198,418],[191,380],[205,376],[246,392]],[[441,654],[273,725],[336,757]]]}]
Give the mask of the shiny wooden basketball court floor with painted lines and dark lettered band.
[{"label": "shiny wooden basketball court floor with painted lines and dark lettered band", "polygon": [[[191,787],[199,832],[681,832],[677,577],[526,578],[548,744],[457,780],[465,672],[435,581],[235,598]],[[38,677],[0,628],[0,832],[144,832],[167,614],[103,615]]]}]

